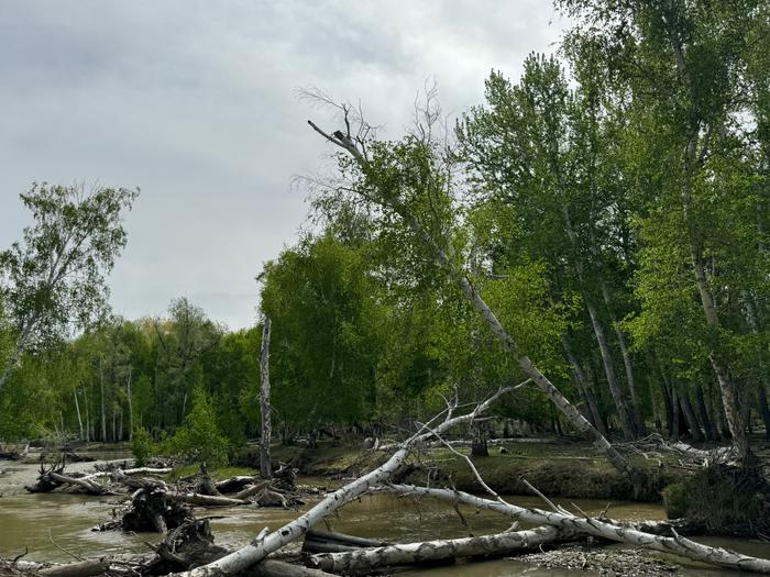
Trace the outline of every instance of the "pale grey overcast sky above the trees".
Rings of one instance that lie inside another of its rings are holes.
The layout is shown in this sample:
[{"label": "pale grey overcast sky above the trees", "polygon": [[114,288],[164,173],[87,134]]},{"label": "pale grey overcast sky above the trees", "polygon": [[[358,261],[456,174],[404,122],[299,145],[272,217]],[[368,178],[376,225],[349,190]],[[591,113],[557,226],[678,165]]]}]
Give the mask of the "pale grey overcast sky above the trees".
[{"label": "pale grey overcast sky above the trees", "polygon": [[116,312],[186,296],[249,326],[255,275],[308,212],[293,178],[329,162],[306,120],[338,127],[298,88],[361,101],[397,137],[426,79],[459,114],[563,25],[548,0],[2,0],[0,247],[35,180],[140,187]]}]

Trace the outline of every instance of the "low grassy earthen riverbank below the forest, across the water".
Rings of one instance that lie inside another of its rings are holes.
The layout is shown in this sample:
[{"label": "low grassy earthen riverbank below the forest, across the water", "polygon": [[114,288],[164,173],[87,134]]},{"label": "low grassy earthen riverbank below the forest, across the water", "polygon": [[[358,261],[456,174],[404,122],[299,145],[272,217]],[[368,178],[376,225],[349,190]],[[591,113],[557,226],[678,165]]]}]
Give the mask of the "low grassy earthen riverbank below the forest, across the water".
[{"label": "low grassy earthen riverbank below the forest, across the water", "polygon": [[[586,442],[569,439],[517,440],[490,447],[486,457],[472,457],[485,482],[495,491],[507,495],[532,495],[528,481],[549,497],[579,499],[634,499],[627,478],[615,470],[606,458]],[[470,456],[470,448],[460,447]],[[258,455],[245,452],[240,464],[255,466]],[[312,477],[356,477],[382,464],[387,454],[365,451],[361,443],[319,442],[310,448],[299,445],[273,447],[273,458],[292,464],[300,475]],[[661,501],[661,491],[691,471],[679,465],[675,457],[630,454],[628,458],[645,471],[649,490],[642,501]],[[444,447],[415,453],[396,474],[395,480],[415,485],[447,485],[468,492],[483,490],[465,461]]]}]

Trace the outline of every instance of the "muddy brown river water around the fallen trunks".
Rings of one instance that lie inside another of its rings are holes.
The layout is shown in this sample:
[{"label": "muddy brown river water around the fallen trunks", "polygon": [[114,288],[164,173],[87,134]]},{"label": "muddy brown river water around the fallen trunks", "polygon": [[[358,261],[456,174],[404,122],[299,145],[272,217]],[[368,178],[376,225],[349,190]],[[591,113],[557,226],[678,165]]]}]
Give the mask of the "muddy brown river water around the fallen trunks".
[{"label": "muddy brown river water around the fallen trunks", "polygon": [[[0,556],[14,557],[25,547],[31,561],[70,561],[67,550],[78,556],[103,555],[122,552],[146,552],[146,543],[158,541],[156,534],[131,534],[117,531],[91,531],[96,524],[107,521],[120,507],[117,497],[87,497],[67,493],[30,495],[23,489],[37,475],[35,465],[20,465],[0,462]],[[78,464],[72,470],[88,470],[91,464]],[[307,481],[307,480],[305,480]],[[310,479],[315,484],[326,484]],[[530,497],[509,497],[510,502],[521,506],[542,507],[542,502]],[[558,501],[558,500],[557,500]],[[561,504],[570,508],[574,502],[590,514],[601,512],[606,501],[587,499],[564,500]],[[309,507],[309,506],[307,506]],[[228,546],[248,543],[264,526],[277,529],[297,515],[297,511],[282,509],[231,508],[196,511],[199,518],[210,517],[216,541]],[[463,510],[474,534],[502,531],[509,526],[509,520],[488,511]],[[660,504],[617,502],[609,509],[615,519],[641,520],[664,519]],[[375,495],[346,506],[331,520],[334,530],[359,536],[382,537],[400,542],[424,541],[437,537],[468,535],[458,514],[446,503],[399,499],[387,495]],[[770,558],[770,545],[741,540],[704,539],[710,544],[718,544],[741,553]],[[590,576],[597,573],[539,569],[516,561],[494,561],[437,569],[405,573],[414,576],[449,577],[503,577],[526,575],[527,577]],[[685,566],[680,575],[685,576],[736,576],[737,572],[711,569],[695,565]]]}]

